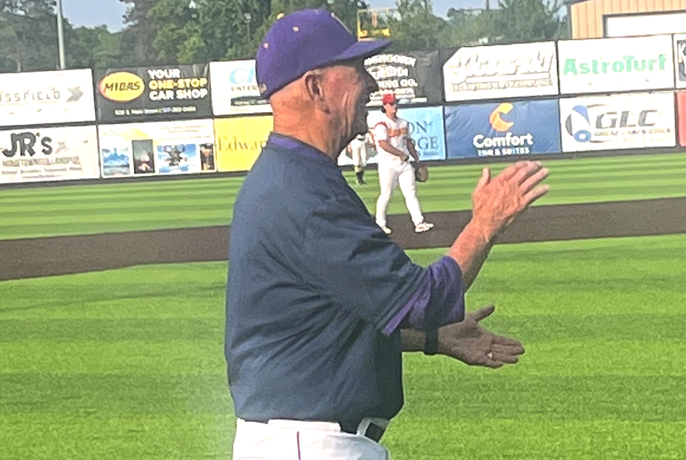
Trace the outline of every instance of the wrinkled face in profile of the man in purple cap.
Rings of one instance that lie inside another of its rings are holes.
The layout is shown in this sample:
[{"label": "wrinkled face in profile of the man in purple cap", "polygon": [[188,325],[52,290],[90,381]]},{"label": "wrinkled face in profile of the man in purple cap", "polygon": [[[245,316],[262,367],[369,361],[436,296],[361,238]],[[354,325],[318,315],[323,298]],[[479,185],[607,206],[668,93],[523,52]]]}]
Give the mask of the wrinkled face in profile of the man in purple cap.
[{"label": "wrinkled face in profile of the man in purple cap", "polygon": [[364,69],[364,60],[358,59],[329,67],[327,71],[327,97],[333,115],[340,119],[344,141],[367,132],[367,103],[369,96],[379,89],[376,80]]}]

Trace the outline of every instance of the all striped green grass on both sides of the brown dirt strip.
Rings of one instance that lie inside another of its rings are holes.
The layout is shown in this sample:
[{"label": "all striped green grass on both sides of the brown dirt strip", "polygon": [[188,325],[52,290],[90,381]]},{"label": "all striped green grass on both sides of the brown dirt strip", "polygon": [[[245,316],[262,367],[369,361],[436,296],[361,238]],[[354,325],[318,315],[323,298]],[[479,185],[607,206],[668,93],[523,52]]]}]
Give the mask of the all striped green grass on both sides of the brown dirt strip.
[{"label": "all striped green grass on both sides of the brown dirt strip", "polygon": [[[539,205],[686,196],[686,155],[546,164]],[[433,168],[425,211],[468,209],[480,168]],[[358,190],[373,208],[368,176]],[[241,181],[2,189],[0,239],[224,225]],[[405,212],[399,194],[390,211]],[[686,459],[685,246],[496,246],[469,306],[495,303],[486,325],[527,352],[497,371],[406,356],[406,404],[383,439],[392,458]],[[410,251],[421,264],[441,253]],[[226,268],[0,282],[0,459],[230,459]]]}]

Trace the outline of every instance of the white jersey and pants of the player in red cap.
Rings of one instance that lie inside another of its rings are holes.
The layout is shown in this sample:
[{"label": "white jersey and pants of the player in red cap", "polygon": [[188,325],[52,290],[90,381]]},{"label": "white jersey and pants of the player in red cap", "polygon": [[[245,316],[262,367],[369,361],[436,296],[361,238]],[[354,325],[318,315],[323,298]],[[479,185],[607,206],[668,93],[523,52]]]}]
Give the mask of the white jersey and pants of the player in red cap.
[{"label": "white jersey and pants of the player in red cap", "polygon": [[[377,225],[379,227],[386,227],[386,211],[396,184],[400,185],[401,192],[405,196],[405,206],[410,212],[414,225],[424,221],[417,199],[414,168],[409,161],[410,150],[407,149],[407,141],[410,141],[410,137],[407,134],[407,127],[407,120],[400,117],[392,120],[385,114],[381,121],[374,126],[374,139],[378,152],[377,162],[379,163],[379,186],[381,187],[381,194],[377,200]],[[407,154],[408,159],[403,161],[397,155],[383,150],[379,146],[379,141],[383,140]]]}]

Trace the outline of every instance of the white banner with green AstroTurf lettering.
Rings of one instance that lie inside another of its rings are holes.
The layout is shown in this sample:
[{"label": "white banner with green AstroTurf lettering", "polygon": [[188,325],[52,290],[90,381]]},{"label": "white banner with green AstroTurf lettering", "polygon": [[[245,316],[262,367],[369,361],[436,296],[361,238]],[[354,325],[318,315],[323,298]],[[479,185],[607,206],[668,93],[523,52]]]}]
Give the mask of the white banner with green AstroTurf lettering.
[{"label": "white banner with green AstroTurf lettering", "polygon": [[559,41],[558,54],[563,94],[674,87],[669,35]]}]

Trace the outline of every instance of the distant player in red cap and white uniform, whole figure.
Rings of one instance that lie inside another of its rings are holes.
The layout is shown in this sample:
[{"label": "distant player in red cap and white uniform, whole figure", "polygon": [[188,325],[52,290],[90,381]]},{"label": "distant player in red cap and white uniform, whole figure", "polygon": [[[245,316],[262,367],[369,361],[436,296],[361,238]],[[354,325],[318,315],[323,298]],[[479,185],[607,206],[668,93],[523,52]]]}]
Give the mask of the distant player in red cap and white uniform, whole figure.
[{"label": "distant player in red cap and white uniform, whole figure", "polygon": [[431,230],[434,224],[424,222],[422,210],[416,194],[414,168],[410,156],[417,165],[419,156],[414,143],[407,133],[407,120],[398,117],[398,101],[394,94],[383,95],[383,118],[374,126],[374,139],[377,145],[379,163],[379,185],[381,194],[377,200],[377,224],[386,233],[391,233],[386,222],[386,210],[396,184],[400,185],[405,196],[407,211],[410,211],[414,231],[422,233]]}]

